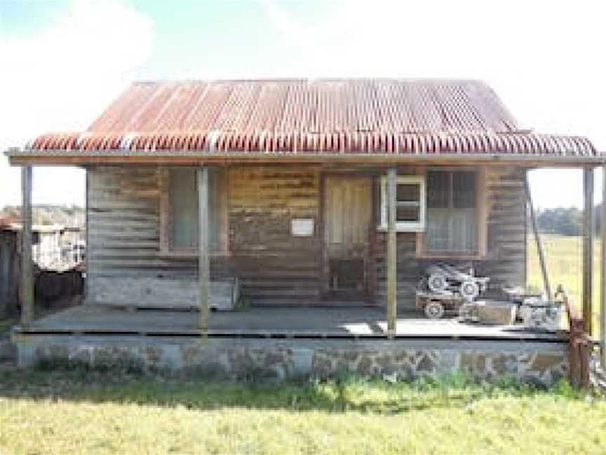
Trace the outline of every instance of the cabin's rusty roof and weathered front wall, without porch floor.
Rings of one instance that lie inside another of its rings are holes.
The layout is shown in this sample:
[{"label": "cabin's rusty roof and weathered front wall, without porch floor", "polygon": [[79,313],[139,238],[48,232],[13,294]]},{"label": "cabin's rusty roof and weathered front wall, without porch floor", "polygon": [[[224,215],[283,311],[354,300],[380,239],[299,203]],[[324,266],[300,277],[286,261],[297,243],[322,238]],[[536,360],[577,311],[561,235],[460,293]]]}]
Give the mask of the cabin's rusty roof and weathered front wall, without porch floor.
[{"label": "cabin's rusty roof and weathered front wall, without porch floor", "polygon": [[394,311],[436,261],[525,286],[527,171],[603,161],[439,79],[139,82],[8,157],[86,169],[91,305]]}]

